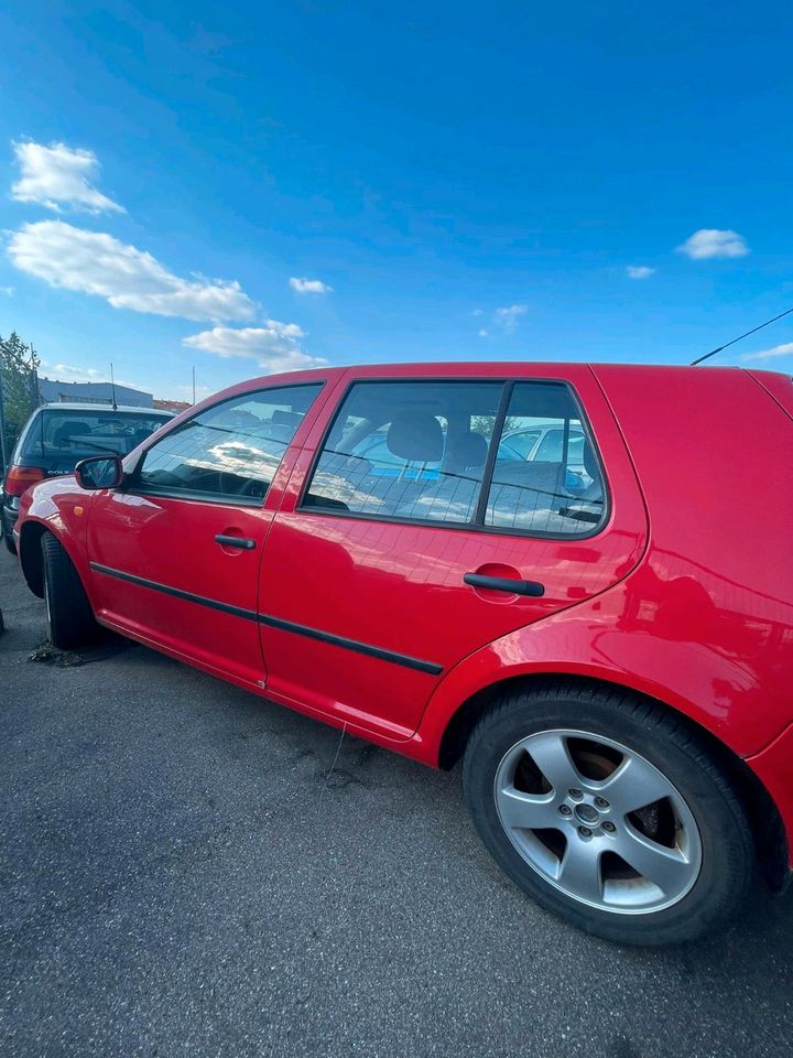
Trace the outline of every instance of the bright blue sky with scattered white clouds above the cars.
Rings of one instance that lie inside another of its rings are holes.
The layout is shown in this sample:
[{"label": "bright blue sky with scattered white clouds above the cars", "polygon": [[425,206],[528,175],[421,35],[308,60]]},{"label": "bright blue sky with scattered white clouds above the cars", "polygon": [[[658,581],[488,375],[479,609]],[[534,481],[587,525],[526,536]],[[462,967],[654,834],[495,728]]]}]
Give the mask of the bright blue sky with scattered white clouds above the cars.
[{"label": "bright blue sky with scattered white clouds above the cars", "polygon": [[[193,365],[687,363],[793,304],[789,18],[7,0],[0,334],[165,397]],[[793,369],[793,317],[730,354]]]}]

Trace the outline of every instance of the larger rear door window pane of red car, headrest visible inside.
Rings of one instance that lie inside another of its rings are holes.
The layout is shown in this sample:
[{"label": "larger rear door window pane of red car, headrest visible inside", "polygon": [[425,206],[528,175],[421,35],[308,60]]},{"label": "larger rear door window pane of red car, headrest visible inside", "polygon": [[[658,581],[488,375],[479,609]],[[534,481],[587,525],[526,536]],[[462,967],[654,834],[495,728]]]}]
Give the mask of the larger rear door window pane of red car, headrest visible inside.
[{"label": "larger rear door window pane of red car, headrest visible inside", "polygon": [[303,507],[471,521],[502,392],[500,381],[357,382],[325,440]]}]

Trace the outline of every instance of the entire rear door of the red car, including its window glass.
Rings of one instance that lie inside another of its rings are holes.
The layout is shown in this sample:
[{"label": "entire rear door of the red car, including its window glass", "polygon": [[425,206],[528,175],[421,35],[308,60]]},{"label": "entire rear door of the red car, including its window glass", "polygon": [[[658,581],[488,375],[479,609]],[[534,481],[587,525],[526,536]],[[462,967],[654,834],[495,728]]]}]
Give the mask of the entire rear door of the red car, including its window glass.
[{"label": "entire rear door of the red car, including its window glass", "polygon": [[[409,379],[370,369],[347,382],[301,452],[268,539],[268,690],[400,739],[468,654],[623,577],[645,515],[585,366],[517,379],[498,367]],[[504,432],[536,421],[558,425],[566,460],[499,453]],[[574,430],[589,445],[585,477],[569,473],[582,458]]]}]

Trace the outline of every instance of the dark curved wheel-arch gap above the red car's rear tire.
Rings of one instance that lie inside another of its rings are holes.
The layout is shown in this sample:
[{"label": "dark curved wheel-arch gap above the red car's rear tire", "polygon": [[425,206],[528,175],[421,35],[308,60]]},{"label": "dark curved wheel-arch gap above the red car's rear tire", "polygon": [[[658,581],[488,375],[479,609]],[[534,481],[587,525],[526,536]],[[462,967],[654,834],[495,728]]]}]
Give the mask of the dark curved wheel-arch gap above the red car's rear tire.
[{"label": "dark curved wheel-arch gap above the red car's rear tire", "polygon": [[749,817],[758,862],[765,881],[774,889],[784,885],[787,876],[787,835],[779,809],[759,777],[738,754],[707,727],[669,703],[623,684],[594,677],[569,676],[564,672],[523,674],[492,683],[464,701],[450,717],[441,739],[438,767],[450,770],[465,754],[468,739],[481,717],[504,698],[521,690],[533,693],[547,691],[554,695],[568,690],[574,691],[576,697],[587,690],[593,694],[601,694],[604,691],[620,693],[633,701],[638,699],[648,705],[660,706],[674,715],[700,739],[732,785]]}]

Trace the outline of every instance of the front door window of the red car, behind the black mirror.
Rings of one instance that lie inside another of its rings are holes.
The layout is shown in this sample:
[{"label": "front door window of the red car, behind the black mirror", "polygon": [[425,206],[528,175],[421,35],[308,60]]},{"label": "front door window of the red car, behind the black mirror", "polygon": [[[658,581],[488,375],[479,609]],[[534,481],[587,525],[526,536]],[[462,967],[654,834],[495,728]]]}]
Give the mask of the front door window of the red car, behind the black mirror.
[{"label": "front door window of the red car, behind the black mirror", "polygon": [[207,408],[146,451],[138,486],[260,503],[321,389],[284,386]]}]

